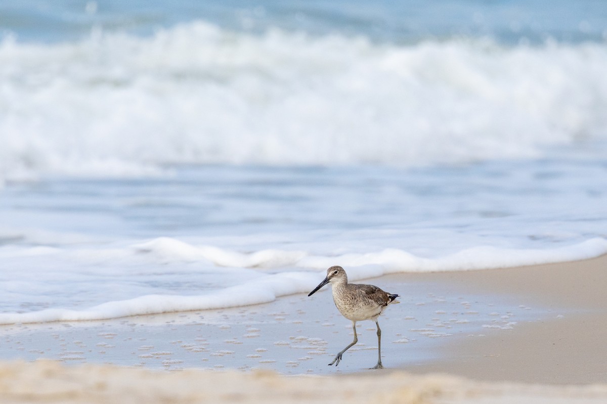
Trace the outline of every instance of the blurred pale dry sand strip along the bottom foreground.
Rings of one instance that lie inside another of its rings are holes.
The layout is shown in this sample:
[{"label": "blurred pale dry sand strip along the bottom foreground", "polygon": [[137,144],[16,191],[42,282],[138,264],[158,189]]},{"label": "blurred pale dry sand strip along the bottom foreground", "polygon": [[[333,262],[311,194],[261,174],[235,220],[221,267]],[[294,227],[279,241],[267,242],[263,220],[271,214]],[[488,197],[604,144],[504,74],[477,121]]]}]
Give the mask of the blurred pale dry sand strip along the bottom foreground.
[{"label": "blurred pale dry sand strip along the bottom foreground", "polygon": [[0,402],[17,403],[550,403],[607,402],[607,386],[472,382],[448,375],[285,376],[184,370],[149,371],[56,362],[0,365]]}]

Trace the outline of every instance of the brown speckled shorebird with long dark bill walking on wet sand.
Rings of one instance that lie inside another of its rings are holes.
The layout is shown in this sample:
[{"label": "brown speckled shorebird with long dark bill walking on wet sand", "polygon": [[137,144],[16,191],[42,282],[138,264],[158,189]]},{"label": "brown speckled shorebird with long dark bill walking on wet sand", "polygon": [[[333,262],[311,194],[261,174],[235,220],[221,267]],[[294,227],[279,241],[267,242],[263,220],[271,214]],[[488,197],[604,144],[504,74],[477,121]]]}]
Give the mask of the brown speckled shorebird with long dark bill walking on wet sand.
[{"label": "brown speckled shorebird with long dark bill walking on wet sand", "polygon": [[395,300],[399,295],[384,292],[372,284],[348,283],[348,275],[346,275],[344,268],[336,265],[327,269],[327,277],[308,296],[314,294],[327,283],[333,284],[333,301],[337,310],[352,322],[352,329],[354,330],[352,343],[335,355],[329,366],[333,363],[335,366],[339,365],[344,352],[358,342],[356,322],[373,320],[378,327],[378,364],[371,369],[383,369],[384,366],[381,364],[381,329],[379,329],[378,317],[390,303],[401,303]]}]

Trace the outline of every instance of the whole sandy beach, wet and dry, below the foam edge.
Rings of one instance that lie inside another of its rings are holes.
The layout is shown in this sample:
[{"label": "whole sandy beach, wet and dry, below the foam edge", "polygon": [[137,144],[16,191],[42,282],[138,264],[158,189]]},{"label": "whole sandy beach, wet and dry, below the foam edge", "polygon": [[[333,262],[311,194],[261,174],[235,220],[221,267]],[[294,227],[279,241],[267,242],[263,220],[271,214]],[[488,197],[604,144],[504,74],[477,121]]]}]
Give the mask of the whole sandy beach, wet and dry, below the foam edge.
[{"label": "whole sandy beach, wet and dry, below the foam edge", "polygon": [[402,295],[380,319],[390,369],[367,370],[371,322],[339,368],[327,366],[351,330],[321,291],[223,311],[2,326],[0,402],[607,402],[607,257],[368,283]]}]

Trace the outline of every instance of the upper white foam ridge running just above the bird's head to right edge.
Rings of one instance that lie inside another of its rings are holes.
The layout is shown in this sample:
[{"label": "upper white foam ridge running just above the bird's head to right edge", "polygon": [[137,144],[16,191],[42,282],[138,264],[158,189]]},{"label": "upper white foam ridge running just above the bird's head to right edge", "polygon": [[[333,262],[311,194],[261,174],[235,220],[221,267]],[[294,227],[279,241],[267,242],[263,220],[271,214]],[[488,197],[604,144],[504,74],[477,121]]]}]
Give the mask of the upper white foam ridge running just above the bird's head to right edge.
[{"label": "upper white foam ridge running just above the bird's head to right edge", "polygon": [[[427,271],[467,271],[474,269],[508,268],[521,265],[555,263],[583,260],[607,253],[607,240],[592,238],[574,246],[552,249],[505,249],[492,246],[478,246],[444,257],[416,257],[401,249],[384,249],[379,252],[362,254],[342,254],[319,256],[303,251],[264,250],[244,254],[220,247],[195,247],[182,241],[163,237],[136,246],[143,251],[156,252],[171,249],[177,260],[205,259],[219,266],[236,268],[284,268],[299,267],[326,269],[336,262],[343,266],[359,267],[362,272],[353,271],[357,279],[381,276],[393,272]],[[277,264],[280,263],[280,264]],[[380,269],[381,268],[381,269]]]}]

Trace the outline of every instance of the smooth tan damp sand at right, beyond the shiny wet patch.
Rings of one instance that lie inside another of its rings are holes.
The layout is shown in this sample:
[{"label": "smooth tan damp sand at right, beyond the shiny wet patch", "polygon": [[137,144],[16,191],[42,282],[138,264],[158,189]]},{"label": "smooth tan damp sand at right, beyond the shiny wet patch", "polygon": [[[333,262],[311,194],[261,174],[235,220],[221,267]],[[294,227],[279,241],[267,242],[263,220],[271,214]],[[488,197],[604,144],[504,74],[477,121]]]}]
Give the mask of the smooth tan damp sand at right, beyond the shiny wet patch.
[{"label": "smooth tan damp sand at right, beyond the shiny wet patch", "polygon": [[474,341],[447,342],[438,360],[415,373],[447,372],[476,380],[524,383],[607,383],[607,256],[478,272],[411,274],[412,281],[447,282],[547,308],[552,315],[488,333]]}]

